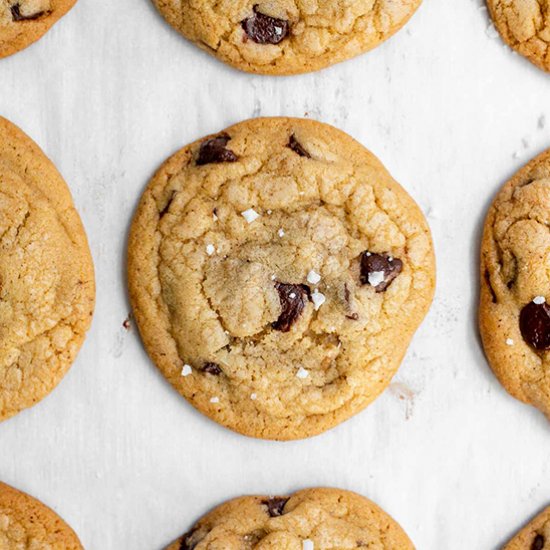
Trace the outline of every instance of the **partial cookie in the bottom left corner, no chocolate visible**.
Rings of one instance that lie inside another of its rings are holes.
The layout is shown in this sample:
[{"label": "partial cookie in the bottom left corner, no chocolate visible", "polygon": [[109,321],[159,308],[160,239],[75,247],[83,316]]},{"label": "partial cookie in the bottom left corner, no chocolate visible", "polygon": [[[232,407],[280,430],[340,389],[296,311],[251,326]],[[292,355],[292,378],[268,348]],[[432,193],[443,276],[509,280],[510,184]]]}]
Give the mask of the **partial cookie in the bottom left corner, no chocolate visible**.
[{"label": "partial cookie in the bottom left corner, no chocolate visible", "polygon": [[2,550],[82,550],[76,533],[46,505],[0,483]]}]

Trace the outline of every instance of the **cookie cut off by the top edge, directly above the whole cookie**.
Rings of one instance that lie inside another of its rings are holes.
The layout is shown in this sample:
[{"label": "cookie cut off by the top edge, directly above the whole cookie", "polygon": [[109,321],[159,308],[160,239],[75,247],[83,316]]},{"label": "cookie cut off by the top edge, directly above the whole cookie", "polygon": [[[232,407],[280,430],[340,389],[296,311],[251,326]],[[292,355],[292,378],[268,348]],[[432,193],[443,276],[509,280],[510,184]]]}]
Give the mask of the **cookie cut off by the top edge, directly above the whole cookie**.
[{"label": "cookie cut off by the top edge, directly above the whole cookie", "polygon": [[251,73],[316,71],[371,50],[397,32],[422,0],[153,0],[183,36]]}]

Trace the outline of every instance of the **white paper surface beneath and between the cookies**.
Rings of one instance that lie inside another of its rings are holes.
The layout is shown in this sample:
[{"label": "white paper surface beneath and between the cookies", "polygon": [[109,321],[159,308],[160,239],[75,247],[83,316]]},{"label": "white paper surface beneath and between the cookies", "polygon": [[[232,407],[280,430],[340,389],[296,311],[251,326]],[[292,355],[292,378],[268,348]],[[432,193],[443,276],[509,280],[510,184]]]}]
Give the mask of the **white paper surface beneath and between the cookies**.
[{"label": "white paper surface beneath and between the cookies", "polygon": [[[0,113],[65,176],[98,282],[69,375],[0,425],[0,479],[53,506],[87,550],[159,550],[230,497],[316,485],[370,497],[419,550],[499,548],[548,504],[549,426],[500,387],[475,315],[483,217],[550,146],[550,76],[488,27],[482,0],[425,0],[370,54],[273,78],[200,52],[149,0],[80,0],[41,42],[0,60]],[[125,239],[148,178],[177,148],[241,119],[306,113],[365,144],[420,203],[438,289],[374,405],[311,440],[255,441],[195,412],[122,328]]]}]

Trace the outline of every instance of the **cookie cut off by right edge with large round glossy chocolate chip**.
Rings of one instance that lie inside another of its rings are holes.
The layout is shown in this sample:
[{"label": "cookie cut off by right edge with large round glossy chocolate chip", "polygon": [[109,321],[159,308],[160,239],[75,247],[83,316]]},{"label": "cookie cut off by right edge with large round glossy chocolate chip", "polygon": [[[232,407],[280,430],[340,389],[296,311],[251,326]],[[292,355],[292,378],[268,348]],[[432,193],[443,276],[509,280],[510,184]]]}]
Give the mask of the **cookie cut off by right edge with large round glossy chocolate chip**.
[{"label": "cookie cut off by right edge with large round glossy chocolate chip", "polygon": [[479,321],[487,359],[517,399],[550,417],[550,151],[522,168],[489,209]]}]

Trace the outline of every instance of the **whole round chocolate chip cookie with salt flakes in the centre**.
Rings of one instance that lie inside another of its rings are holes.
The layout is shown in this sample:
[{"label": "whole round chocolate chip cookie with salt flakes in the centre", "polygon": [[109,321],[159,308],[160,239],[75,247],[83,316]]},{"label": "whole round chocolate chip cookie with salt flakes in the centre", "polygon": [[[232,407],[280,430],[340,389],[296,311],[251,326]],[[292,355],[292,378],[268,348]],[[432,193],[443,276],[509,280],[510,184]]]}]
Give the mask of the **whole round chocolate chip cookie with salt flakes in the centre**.
[{"label": "whole round chocolate chip cookie with salt flakes in the centre", "polygon": [[155,364],[210,418],[269,439],[371,403],[434,290],[417,205],[312,120],[249,120],[184,147],[145,190],[128,253]]}]

